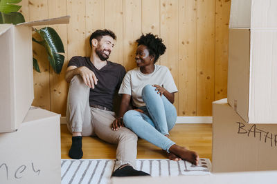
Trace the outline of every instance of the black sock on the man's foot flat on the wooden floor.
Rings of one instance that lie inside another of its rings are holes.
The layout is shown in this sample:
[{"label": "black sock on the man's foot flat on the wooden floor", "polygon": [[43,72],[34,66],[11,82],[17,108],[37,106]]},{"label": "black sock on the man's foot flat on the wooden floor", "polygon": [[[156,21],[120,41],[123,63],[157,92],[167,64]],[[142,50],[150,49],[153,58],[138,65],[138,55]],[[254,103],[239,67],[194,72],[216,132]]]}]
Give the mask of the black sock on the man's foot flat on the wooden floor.
[{"label": "black sock on the man's foot flat on the wooden floor", "polygon": [[82,159],[82,136],[73,136],[72,145],[69,150],[71,159]]}]

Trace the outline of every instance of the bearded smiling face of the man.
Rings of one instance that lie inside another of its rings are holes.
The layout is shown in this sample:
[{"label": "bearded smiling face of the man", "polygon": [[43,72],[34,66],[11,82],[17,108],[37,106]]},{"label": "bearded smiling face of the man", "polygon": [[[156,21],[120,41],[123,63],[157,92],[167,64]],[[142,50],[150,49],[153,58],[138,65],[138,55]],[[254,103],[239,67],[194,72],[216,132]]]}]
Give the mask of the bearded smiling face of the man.
[{"label": "bearded smiling face of the man", "polygon": [[106,61],[109,59],[109,54],[114,48],[114,39],[109,36],[103,36],[96,47],[96,54],[101,59],[101,61]]}]

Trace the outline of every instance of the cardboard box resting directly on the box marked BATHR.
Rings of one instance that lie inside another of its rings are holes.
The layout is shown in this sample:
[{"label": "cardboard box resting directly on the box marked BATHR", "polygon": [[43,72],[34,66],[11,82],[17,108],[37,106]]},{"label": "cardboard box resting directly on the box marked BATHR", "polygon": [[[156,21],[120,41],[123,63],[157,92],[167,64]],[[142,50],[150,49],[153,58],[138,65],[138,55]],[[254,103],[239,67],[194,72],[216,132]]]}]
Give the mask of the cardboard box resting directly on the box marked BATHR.
[{"label": "cardboard box resting directly on the box marked BATHR", "polygon": [[248,123],[277,123],[276,43],[277,28],[229,29],[228,102]]}]

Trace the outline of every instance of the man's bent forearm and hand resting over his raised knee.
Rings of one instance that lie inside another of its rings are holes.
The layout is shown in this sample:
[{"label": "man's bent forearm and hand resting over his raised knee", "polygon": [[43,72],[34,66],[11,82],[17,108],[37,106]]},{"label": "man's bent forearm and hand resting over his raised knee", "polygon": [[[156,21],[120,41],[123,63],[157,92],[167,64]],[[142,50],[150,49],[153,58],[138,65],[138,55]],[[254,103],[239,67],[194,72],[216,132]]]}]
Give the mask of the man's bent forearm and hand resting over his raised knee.
[{"label": "man's bent forearm and hand resting over his raised knee", "polygon": [[98,79],[96,78],[96,75],[94,72],[89,70],[89,68],[85,66],[81,66],[77,68],[75,65],[71,65],[66,69],[66,74],[65,74],[65,80],[66,82],[70,83],[71,79],[73,76],[80,74],[82,77],[82,80],[86,85],[89,86],[89,88],[94,89],[94,85],[97,84]]}]

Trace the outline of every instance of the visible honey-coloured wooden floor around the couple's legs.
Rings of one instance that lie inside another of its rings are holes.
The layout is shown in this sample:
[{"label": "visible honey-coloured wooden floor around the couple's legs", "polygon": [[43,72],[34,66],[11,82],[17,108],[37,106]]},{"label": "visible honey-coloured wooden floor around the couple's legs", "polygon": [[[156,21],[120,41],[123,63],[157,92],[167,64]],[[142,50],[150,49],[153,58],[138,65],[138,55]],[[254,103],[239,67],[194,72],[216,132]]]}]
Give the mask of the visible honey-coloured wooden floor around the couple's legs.
[{"label": "visible honey-coloured wooden floor around the couple's legs", "polygon": [[[61,125],[62,159],[68,156],[71,134],[66,125]],[[177,145],[194,150],[200,158],[212,159],[212,124],[177,124],[170,131],[170,139]],[[83,137],[82,159],[116,159],[116,145],[106,143],[95,136]],[[138,142],[137,159],[167,159],[161,149],[143,139]]]}]

